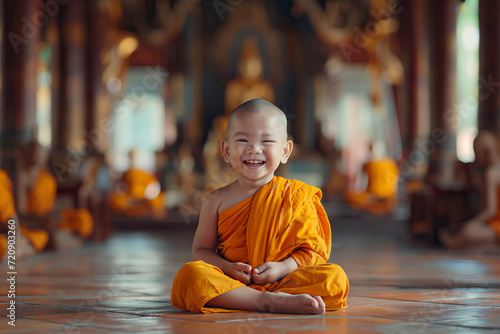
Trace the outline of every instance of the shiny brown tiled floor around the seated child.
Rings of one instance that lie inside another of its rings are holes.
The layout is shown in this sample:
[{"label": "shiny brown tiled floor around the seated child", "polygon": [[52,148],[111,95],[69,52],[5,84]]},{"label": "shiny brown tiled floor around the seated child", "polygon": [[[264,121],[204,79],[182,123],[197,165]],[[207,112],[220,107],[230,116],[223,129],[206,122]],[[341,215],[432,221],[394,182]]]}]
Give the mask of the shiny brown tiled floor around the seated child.
[{"label": "shiny brown tiled floor around the seated child", "polygon": [[[193,235],[192,225],[180,225],[161,233],[116,232],[104,244],[25,260],[16,281],[16,326],[7,324],[3,297],[0,331],[500,333],[500,253],[412,248],[401,231],[340,225],[331,261],[350,278],[344,310],[324,316],[180,312],[170,305],[170,286],[190,260]],[[6,264],[1,267],[4,275]]]}]

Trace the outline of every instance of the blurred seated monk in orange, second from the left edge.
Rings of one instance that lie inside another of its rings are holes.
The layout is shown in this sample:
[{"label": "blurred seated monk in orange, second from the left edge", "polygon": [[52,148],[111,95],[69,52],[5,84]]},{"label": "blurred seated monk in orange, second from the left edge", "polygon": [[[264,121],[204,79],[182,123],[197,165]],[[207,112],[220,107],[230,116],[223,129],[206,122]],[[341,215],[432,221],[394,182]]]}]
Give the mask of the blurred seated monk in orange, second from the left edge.
[{"label": "blurred seated monk in orange, second from the left edge", "polygon": [[[37,252],[49,241],[49,231],[67,231],[80,240],[88,238],[94,229],[94,221],[86,209],[64,209],[54,212],[57,182],[47,171],[47,154],[37,143],[27,147],[28,167],[20,172],[19,208],[21,232],[26,235]],[[44,229],[30,229],[34,225]],[[65,238],[58,234],[54,237]],[[63,240],[58,240],[56,243]],[[58,247],[58,245],[56,245]]]}]

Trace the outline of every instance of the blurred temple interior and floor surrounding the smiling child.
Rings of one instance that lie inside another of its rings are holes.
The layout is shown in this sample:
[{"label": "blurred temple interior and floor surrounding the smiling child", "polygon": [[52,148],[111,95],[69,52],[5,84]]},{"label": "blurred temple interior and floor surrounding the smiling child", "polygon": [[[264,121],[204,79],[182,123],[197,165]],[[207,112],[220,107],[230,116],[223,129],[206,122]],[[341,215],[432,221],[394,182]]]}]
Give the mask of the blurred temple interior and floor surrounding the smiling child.
[{"label": "blurred temple interior and floor surrounding the smiling child", "polygon": [[[0,330],[499,332],[499,36],[488,0],[2,1]],[[172,305],[251,99],[287,119],[276,175],[321,190],[345,308]]]}]

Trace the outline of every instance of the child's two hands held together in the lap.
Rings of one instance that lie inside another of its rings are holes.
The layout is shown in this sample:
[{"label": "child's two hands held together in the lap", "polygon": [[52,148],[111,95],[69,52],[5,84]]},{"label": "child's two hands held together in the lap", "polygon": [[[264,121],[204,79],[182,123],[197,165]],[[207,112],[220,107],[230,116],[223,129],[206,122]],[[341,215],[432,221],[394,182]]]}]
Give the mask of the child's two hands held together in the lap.
[{"label": "child's two hands held together in the lap", "polygon": [[266,284],[276,282],[289,274],[284,262],[265,262],[256,268],[242,262],[231,262],[224,273],[248,285],[250,283]]}]

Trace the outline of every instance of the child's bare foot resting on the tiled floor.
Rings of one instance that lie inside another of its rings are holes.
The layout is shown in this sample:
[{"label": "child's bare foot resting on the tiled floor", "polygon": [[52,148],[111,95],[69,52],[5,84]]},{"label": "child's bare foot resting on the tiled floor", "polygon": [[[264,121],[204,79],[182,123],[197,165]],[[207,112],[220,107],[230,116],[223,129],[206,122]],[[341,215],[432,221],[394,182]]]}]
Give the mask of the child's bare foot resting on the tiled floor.
[{"label": "child's bare foot resting on the tiled floor", "polygon": [[325,303],[319,296],[292,295],[283,292],[267,292],[263,310],[274,313],[324,314]]}]

